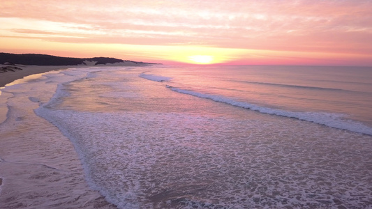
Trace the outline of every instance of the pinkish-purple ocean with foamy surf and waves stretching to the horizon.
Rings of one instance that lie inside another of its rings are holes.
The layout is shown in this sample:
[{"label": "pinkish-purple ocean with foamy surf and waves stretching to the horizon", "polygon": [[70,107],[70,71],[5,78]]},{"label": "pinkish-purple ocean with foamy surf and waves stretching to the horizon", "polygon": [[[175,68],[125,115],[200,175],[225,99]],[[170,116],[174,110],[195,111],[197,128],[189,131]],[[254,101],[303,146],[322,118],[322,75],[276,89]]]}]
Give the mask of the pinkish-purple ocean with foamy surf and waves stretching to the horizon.
[{"label": "pinkish-purple ocean with foamy surf and waves stretching to the horizon", "polygon": [[118,208],[372,207],[372,68],[70,68],[1,91]]}]

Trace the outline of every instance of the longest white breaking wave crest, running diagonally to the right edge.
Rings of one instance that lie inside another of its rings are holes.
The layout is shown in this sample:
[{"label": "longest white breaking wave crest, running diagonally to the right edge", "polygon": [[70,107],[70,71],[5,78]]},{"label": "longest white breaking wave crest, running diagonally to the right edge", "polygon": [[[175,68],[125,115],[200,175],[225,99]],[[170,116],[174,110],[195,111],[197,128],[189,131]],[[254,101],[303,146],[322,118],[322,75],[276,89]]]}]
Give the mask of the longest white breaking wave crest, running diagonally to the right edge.
[{"label": "longest white breaking wave crest, running diagonally to the right edge", "polygon": [[198,98],[206,98],[213,100],[215,102],[223,102],[225,104],[230,104],[235,107],[241,107],[244,109],[251,109],[253,111],[258,111],[263,114],[271,114],[276,116],[283,116],[288,118],[296,118],[302,121],[308,121],[312,123],[318,123],[320,125],[326,125],[328,127],[334,127],[341,130],[348,130],[351,132],[357,132],[361,134],[369,134],[372,136],[372,128],[359,123],[357,121],[346,120],[345,114],[331,114],[325,112],[297,112],[297,111],[285,111],[282,109],[273,109],[270,107],[262,107],[256,104],[250,104],[248,102],[239,102],[231,98],[225,98],[221,95],[209,95],[205,93],[199,93],[196,91],[190,91],[181,88],[175,88],[172,86],[166,86],[172,91],[178,93],[184,93],[188,95],[193,95]]}]

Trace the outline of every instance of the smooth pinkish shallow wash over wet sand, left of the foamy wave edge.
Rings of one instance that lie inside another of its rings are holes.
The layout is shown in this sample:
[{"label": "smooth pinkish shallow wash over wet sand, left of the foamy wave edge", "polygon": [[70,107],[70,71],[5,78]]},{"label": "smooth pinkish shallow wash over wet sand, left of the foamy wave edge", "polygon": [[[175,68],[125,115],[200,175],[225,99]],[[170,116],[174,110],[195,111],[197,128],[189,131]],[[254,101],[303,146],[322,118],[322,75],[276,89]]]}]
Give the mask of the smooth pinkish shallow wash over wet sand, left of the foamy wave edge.
[{"label": "smooth pinkish shallow wash over wet sand, left of the foamy wave edge", "polygon": [[38,76],[3,88],[1,98],[8,98],[0,102],[9,111],[0,124],[0,208],[114,208],[89,189],[70,141],[32,111],[50,100],[59,82],[75,78]]}]

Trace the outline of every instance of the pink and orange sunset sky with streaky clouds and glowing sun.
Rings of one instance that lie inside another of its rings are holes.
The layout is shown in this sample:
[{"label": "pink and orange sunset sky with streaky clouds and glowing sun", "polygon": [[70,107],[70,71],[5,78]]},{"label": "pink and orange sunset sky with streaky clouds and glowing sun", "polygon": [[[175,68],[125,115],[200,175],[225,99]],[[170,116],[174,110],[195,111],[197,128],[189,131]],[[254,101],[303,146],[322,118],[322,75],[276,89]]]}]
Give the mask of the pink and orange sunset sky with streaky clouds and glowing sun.
[{"label": "pink and orange sunset sky with streaky clouds and glowing sun", "polygon": [[372,66],[372,0],[2,0],[0,52]]}]

